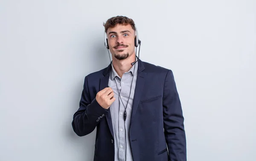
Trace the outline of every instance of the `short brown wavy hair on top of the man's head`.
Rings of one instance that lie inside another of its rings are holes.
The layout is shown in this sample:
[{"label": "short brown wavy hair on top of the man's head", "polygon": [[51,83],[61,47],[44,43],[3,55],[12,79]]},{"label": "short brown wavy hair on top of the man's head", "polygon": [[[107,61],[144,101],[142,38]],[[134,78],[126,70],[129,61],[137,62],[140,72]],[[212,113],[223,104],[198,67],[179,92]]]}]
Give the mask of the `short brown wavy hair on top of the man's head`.
[{"label": "short brown wavy hair on top of the man's head", "polygon": [[116,16],[116,17],[111,17],[106,21],[106,23],[103,23],[103,26],[105,27],[105,32],[107,33],[108,28],[113,28],[117,24],[119,25],[131,25],[131,27],[135,29],[135,23],[134,20],[131,18],[125,17],[125,16]]}]

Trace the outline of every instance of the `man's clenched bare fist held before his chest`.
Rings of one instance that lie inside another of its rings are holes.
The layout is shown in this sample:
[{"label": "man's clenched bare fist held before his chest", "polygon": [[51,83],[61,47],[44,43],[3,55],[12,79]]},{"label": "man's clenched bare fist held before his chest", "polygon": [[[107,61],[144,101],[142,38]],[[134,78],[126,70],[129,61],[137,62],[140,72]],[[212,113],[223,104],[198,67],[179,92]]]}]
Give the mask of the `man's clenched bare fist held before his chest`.
[{"label": "man's clenched bare fist held before his chest", "polygon": [[108,109],[115,100],[114,92],[110,87],[104,88],[96,95],[96,101],[105,109]]}]

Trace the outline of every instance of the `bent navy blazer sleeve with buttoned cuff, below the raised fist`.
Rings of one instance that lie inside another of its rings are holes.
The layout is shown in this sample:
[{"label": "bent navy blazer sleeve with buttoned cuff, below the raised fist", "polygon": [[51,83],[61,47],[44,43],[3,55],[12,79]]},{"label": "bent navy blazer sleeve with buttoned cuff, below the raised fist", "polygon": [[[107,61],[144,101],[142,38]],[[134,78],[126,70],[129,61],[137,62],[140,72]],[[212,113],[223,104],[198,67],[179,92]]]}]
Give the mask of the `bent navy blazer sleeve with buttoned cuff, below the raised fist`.
[{"label": "bent navy blazer sleeve with buttoned cuff, below the raised fist", "polygon": [[108,110],[101,107],[95,98],[90,100],[87,77],[85,77],[79,109],[74,113],[72,121],[73,130],[78,136],[93,132],[100,119],[108,113]]}]

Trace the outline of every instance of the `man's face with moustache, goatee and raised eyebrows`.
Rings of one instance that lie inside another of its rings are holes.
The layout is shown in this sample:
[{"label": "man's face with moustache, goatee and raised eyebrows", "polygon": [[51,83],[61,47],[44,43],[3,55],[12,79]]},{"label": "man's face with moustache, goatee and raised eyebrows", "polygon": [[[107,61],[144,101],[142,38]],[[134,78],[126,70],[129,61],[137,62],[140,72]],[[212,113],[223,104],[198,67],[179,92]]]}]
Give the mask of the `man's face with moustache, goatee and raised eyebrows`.
[{"label": "man's face with moustache, goatee and raised eyebrows", "polygon": [[134,54],[135,31],[131,25],[108,28],[107,36],[109,50],[116,59],[123,60]]}]

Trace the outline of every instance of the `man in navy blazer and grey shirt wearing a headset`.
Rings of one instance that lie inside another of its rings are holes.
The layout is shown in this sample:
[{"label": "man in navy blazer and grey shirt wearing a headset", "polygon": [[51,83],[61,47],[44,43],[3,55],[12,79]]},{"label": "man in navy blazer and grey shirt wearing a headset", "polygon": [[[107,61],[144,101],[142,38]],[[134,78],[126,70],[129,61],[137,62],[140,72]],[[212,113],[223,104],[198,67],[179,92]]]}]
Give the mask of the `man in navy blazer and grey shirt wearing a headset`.
[{"label": "man in navy blazer and grey shirt wearing a headset", "polygon": [[85,76],[73,130],[85,136],[97,128],[94,161],[186,161],[172,71],[137,58],[133,20],[112,17],[104,26],[112,63]]}]

